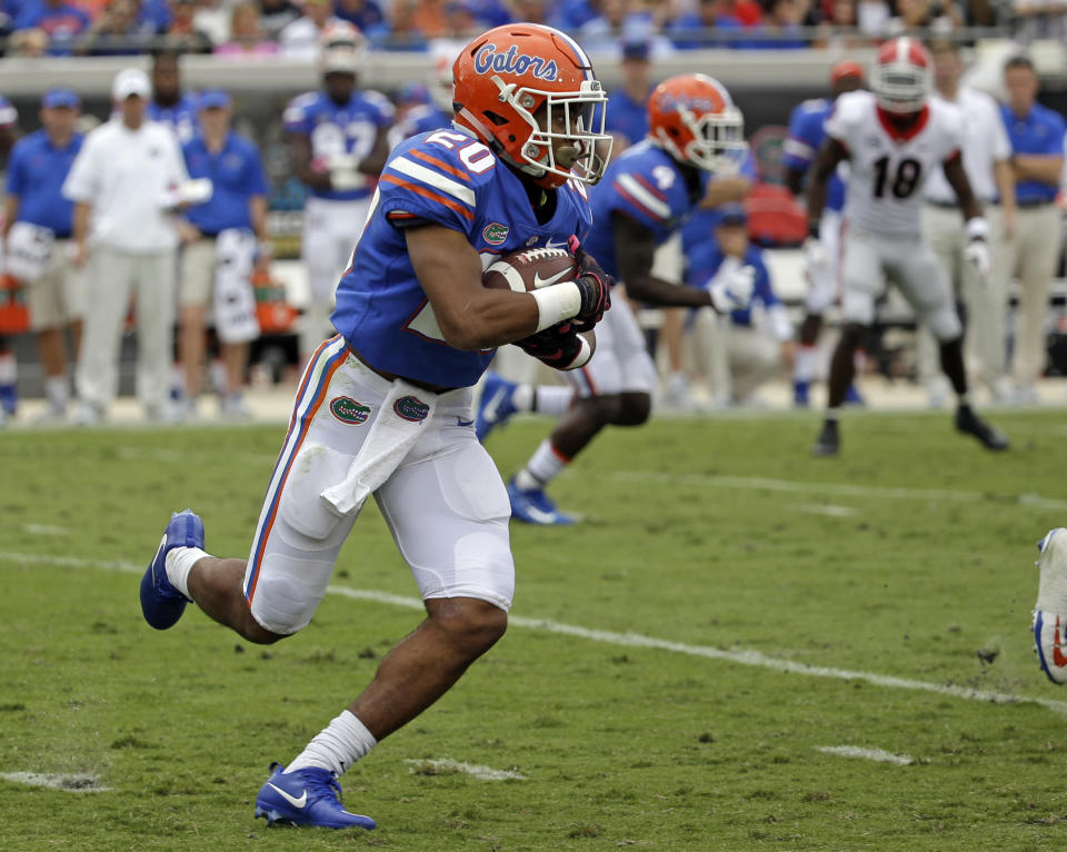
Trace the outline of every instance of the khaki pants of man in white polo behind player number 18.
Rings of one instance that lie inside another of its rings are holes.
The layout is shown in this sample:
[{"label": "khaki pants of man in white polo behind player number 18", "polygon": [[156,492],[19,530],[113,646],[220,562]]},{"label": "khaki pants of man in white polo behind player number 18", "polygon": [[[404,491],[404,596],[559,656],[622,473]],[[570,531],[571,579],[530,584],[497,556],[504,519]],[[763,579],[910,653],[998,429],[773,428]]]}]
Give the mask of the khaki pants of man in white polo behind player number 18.
[{"label": "khaki pants of man in white polo behind player number 18", "polygon": [[[985,215],[989,221],[989,254],[996,271],[1004,262],[1000,210],[989,206]],[[958,207],[927,205],[923,211],[923,236],[945,269],[954,298],[967,308],[967,360],[977,366],[977,374],[986,386],[999,393],[1005,378],[1005,296],[994,286],[993,275],[984,280],[977,267],[964,259],[967,230]],[[919,326],[915,355],[919,382],[926,387],[940,382],[937,344],[925,325]]]}]

